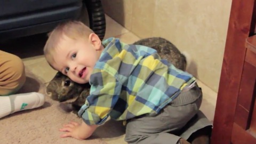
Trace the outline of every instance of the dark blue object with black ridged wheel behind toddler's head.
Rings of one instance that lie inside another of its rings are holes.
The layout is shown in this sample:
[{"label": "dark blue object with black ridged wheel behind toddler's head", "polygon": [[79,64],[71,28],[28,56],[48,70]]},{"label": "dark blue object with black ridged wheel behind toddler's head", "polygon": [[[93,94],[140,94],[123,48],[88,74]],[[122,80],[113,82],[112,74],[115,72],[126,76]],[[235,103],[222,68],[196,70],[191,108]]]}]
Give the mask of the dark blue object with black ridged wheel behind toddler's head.
[{"label": "dark blue object with black ridged wheel behind toddler's head", "polygon": [[100,0],[4,0],[0,1],[0,40],[46,33],[71,19],[83,21],[104,37]]}]

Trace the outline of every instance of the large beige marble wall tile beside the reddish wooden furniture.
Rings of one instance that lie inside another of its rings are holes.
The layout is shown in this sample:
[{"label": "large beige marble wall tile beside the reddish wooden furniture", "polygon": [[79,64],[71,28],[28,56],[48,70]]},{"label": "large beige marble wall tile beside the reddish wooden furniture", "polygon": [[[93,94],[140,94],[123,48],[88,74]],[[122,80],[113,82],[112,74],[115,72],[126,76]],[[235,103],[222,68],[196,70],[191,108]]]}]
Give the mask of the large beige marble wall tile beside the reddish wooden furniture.
[{"label": "large beige marble wall tile beside the reddish wooden furniture", "polygon": [[188,71],[218,91],[231,1],[156,3],[153,35],[172,41],[189,54]]}]

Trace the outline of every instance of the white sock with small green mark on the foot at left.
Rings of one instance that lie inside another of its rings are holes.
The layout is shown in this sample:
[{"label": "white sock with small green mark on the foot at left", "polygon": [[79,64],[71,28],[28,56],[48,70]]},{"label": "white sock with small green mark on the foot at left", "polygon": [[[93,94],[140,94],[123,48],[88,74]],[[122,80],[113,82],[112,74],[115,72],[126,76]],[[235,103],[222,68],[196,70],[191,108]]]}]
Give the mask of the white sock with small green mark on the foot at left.
[{"label": "white sock with small green mark on the foot at left", "polygon": [[45,96],[37,92],[0,96],[0,118],[17,111],[43,106],[44,102]]}]

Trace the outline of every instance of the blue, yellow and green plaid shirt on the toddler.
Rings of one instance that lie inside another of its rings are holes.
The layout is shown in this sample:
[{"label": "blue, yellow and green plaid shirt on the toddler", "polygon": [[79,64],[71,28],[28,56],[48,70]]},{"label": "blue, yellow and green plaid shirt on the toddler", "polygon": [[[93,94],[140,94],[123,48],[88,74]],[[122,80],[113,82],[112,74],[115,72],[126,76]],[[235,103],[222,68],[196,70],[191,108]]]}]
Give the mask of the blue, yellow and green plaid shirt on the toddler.
[{"label": "blue, yellow and green plaid shirt on the toddler", "polygon": [[90,95],[78,111],[86,124],[101,124],[108,116],[125,120],[156,115],[195,81],[149,47],[125,44],[116,38],[102,44],[105,49],[90,77]]}]

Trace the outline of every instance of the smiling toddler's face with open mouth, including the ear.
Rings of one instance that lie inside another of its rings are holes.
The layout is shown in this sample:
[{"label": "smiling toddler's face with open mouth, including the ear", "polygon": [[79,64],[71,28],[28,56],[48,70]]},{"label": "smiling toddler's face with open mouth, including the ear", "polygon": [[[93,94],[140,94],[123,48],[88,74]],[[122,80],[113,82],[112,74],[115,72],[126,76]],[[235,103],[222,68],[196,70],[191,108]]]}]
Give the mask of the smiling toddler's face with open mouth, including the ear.
[{"label": "smiling toddler's face with open mouth, including the ear", "polygon": [[[90,39],[90,36],[89,39],[79,38],[76,40],[63,36],[63,40],[55,50],[54,63],[51,63],[53,68],[67,75],[76,83],[89,82],[93,67],[103,50],[98,36],[92,35],[96,37],[96,40]],[[100,45],[95,41],[99,41]]]}]

